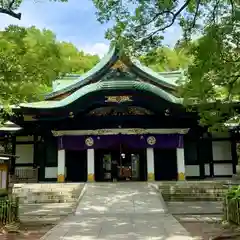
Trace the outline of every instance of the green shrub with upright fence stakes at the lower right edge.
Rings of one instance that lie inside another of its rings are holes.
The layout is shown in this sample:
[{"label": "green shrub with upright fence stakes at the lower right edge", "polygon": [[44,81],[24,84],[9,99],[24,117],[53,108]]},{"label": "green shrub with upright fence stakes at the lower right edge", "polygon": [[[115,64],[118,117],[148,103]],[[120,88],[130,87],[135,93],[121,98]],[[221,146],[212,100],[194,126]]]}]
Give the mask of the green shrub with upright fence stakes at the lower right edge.
[{"label": "green shrub with upright fence stakes at the lower right edge", "polygon": [[240,225],[240,186],[232,187],[223,202],[224,220]]}]

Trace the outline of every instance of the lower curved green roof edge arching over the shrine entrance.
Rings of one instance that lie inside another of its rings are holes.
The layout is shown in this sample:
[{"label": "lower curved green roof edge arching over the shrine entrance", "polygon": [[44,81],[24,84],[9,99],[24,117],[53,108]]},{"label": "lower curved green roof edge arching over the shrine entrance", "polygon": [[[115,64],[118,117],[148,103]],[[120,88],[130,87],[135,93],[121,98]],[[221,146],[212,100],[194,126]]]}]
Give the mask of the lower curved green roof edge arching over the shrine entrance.
[{"label": "lower curved green roof edge arching over the shrine entrance", "polygon": [[181,104],[182,99],[173,96],[172,94],[158,88],[152,84],[139,81],[103,81],[85,85],[79,90],[72,93],[70,96],[60,100],[60,101],[43,101],[35,103],[23,103],[20,107],[24,108],[38,108],[38,109],[53,109],[65,107],[79,98],[87,96],[93,92],[100,90],[138,90],[153,93],[166,101],[174,104]]}]

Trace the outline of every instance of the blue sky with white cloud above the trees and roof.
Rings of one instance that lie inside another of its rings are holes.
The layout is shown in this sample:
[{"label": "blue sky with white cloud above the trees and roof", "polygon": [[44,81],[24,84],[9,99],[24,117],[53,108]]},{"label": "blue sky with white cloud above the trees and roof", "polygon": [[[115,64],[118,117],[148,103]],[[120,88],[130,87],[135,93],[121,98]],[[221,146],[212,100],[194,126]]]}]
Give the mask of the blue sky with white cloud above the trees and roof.
[{"label": "blue sky with white cloud above the trees and roof", "polygon": [[[103,56],[108,50],[109,42],[104,38],[108,26],[97,22],[91,0],[69,0],[68,3],[23,0],[19,11],[22,13],[20,21],[1,14],[0,29],[9,24],[34,25],[52,30],[58,40],[72,42],[85,52]],[[165,34],[165,43],[174,45],[180,35],[180,29],[172,27]]]}]

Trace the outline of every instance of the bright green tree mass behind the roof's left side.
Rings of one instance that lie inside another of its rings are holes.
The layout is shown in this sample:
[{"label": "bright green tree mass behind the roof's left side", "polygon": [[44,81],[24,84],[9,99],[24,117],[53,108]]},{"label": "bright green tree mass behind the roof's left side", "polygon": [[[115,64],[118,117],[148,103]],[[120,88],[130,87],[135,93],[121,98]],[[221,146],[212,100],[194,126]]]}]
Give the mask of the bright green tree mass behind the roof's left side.
[{"label": "bright green tree mass behind the roof's left side", "polygon": [[9,26],[0,32],[0,104],[39,100],[57,77],[84,73],[98,61],[49,30]]}]

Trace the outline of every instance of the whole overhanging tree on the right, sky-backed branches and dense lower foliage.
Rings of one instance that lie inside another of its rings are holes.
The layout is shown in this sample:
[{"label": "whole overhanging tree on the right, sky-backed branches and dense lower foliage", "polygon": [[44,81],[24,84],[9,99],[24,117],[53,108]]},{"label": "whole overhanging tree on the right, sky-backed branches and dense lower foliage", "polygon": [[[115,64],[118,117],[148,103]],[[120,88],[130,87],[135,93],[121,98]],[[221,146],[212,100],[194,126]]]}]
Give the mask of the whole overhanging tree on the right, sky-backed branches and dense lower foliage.
[{"label": "whole overhanging tree on the right, sky-backed branches and dense lower foliage", "polygon": [[201,123],[215,129],[230,118],[238,119],[239,0],[93,2],[100,22],[114,22],[106,37],[128,48],[132,55],[153,52],[162,46],[166,29],[180,27],[183,36],[176,49],[187,47],[192,58],[180,83],[186,105],[197,104]]}]

